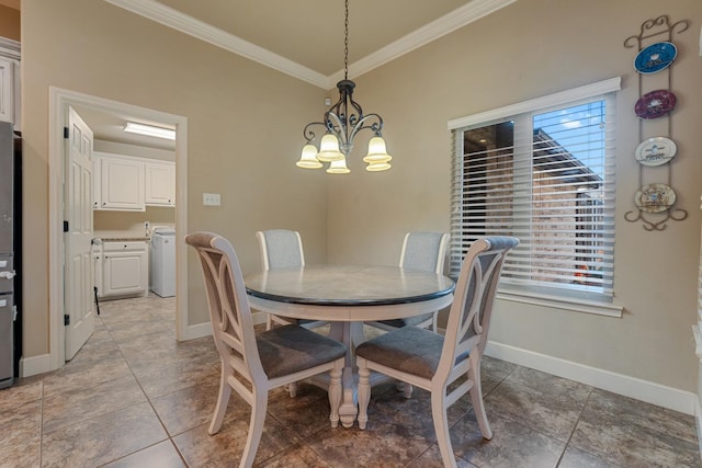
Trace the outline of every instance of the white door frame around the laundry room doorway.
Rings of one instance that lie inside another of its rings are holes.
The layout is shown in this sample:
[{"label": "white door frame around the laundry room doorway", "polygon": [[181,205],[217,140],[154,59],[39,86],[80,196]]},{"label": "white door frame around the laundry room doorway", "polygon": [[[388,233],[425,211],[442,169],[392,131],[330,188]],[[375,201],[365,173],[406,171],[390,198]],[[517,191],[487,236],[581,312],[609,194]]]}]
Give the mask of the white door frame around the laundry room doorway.
[{"label": "white door frame around the laundry room doorway", "polygon": [[[48,109],[48,295],[49,366],[65,364],[64,329],[64,127],[68,125],[68,106],[126,114],[176,126],[176,236],[188,229],[188,118],[89,94],[49,87]],[[195,338],[188,326],[188,250],[185,242],[176,248],[176,339]]]}]

